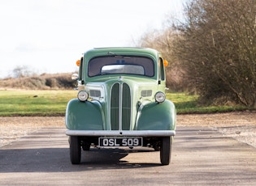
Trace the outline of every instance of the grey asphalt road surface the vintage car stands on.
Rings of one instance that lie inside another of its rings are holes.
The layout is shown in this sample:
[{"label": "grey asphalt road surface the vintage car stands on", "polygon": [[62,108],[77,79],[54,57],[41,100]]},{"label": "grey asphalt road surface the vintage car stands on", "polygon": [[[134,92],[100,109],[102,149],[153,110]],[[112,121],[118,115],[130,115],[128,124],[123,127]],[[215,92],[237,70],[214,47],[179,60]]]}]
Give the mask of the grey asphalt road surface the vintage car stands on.
[{"label": "grey asphalt road surface the vintage car stands on", "polygon": [[82,152],[69,161],[63,128],[45,128],[0,148],[0,185],[256,185],[256,149],[213,129],[180,127],[171,163],[148,148]]}]

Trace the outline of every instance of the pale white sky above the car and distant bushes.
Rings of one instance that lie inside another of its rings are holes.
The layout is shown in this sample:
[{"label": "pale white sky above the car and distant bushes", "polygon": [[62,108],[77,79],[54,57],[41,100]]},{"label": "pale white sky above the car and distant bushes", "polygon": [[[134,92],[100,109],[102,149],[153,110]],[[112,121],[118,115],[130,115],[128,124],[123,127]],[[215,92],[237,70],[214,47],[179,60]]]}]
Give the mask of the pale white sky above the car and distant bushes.
[{"label": "pale white sky above the car and distant bushes", "polygon": [[0,78],[16,67],[70,73],[89,49],[134,46],[184,0],[0,0]]}]

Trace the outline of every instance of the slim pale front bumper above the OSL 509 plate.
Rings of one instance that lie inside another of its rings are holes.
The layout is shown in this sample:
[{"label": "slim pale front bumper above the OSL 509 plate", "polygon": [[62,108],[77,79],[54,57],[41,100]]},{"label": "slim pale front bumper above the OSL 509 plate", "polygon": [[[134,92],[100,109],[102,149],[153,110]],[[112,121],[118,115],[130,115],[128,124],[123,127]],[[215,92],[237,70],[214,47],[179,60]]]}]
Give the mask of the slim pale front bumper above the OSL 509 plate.
[{"label": "slim pale front bumper above the OSL 509 plate", "polygon": [[175,130],[67,130],[67,136],[93,137],[168,137],[175,136]]}]

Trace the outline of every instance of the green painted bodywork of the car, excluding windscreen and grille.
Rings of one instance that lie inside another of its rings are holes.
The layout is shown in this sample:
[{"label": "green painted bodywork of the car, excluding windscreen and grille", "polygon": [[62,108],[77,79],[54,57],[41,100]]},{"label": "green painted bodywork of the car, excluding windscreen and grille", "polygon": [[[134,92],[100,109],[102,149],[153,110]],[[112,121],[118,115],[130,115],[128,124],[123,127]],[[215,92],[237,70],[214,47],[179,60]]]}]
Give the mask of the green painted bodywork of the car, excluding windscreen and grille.
[{"label": "green painted bodywork of the car, excluding windscreen and grille", "polygon": [[[89,77],[88,62],[93,57],[107,56],[107,53],[124,56],[150,57],[154,61],[154,76],[145,77],[135,74],[108,74]],[[111,87],[115,83],[127,84],[131,90],[131,126],[130,130],[175,130],[176,108],[171,101],[158,104],[154,95],[158,91],[165,92],[166,80],[159,80],[159,58],[162,56],[154,49],[140,48],[104,48],[92,49],[85,53],[80,66],[79,82],[85,90],[100,90],[100,98],[93,101],[80,102],[72,99],[67,104],[66,126],[72,130],[110,130],[111,129]],[[141,91],[151,92],[149,96],[141,96]],[[90,96],[90,95],[89,95]],[[124,98],[125,99],[125,98]],[[143,107],[142,107],[143,106]]]}]

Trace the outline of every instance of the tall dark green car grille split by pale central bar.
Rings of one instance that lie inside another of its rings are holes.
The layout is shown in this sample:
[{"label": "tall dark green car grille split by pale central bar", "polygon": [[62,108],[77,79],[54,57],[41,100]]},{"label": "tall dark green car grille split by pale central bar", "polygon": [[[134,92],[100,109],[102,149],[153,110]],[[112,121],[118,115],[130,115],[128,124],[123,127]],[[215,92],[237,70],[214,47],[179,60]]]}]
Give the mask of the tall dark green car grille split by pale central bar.
[{"label": "tall dark green car grille split by pale central bar", "polygon": [[127,83],[115,83],[111,89],[111,130],[129,130],[131,91]]}]

